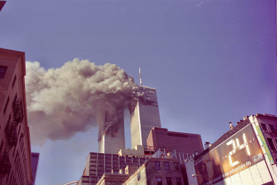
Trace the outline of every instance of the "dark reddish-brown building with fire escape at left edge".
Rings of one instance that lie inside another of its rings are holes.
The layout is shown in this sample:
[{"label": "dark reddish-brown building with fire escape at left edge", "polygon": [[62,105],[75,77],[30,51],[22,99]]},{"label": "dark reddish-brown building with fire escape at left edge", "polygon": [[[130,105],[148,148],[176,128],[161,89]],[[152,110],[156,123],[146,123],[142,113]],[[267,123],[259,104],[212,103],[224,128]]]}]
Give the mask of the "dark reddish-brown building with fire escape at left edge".
[{"label": "dark reddish-brown building with fire escape at left edge", "polygon": [[25,53],[0,49],[0,184],[29,185],[30,132],[26,112]]}]

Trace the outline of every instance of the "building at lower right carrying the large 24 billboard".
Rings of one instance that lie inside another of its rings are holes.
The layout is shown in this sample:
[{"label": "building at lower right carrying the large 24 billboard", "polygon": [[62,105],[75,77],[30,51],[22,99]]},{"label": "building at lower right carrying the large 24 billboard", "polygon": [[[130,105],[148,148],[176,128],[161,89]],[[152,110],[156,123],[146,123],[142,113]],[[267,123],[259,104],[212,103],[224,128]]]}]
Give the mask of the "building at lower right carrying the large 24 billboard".
[{"label": "building at lower right carrying the large 24 billboard", "polygon": [[[275,127],[277,116],[269,114],[245,116],[237,126],[231,125],[195,157],[195,174],[201,175],[197,184],[277,184]],[[188,174],[188,182],[193,178]]]}]

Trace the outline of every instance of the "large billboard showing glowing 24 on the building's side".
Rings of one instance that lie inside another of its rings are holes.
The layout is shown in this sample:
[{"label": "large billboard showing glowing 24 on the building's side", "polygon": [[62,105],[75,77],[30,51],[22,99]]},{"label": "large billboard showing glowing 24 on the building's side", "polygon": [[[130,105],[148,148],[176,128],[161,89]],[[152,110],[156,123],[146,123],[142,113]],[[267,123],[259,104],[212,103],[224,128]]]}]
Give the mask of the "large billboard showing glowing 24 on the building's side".
[{"label": "large billboard showing glowing 24 on the building's side", "polygon": [[264,160],[251,124],[195,161],[198,184],[213,184]]}]

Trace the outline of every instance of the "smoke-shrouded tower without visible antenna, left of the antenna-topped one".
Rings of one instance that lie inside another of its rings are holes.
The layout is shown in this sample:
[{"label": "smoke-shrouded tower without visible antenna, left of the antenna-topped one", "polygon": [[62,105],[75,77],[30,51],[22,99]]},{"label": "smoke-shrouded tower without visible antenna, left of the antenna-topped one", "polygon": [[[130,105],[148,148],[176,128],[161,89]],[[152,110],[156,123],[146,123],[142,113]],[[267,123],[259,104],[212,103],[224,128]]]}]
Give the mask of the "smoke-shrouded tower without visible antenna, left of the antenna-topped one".
[{"label": "smoke-shrouded tower without visible antenna, left of the antenna-topped one", "polygon": [[121,148],[125,148],[122,108],[105,103],[102,116],[98,118],[98,128],[98,152],[117,154]]}]

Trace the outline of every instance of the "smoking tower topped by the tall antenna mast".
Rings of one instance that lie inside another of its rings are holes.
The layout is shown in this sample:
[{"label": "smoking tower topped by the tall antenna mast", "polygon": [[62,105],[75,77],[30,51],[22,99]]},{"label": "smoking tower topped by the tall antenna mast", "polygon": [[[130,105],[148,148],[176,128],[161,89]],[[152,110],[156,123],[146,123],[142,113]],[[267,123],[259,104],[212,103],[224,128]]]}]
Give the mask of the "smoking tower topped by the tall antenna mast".
[{"label": "smoking tower topped by the tall antenna mast", "polygon": [[129,103],[132,148],[146,146],[152,127],[161,127],[156,89],[139,86],[139,94]]}]

